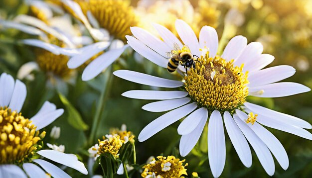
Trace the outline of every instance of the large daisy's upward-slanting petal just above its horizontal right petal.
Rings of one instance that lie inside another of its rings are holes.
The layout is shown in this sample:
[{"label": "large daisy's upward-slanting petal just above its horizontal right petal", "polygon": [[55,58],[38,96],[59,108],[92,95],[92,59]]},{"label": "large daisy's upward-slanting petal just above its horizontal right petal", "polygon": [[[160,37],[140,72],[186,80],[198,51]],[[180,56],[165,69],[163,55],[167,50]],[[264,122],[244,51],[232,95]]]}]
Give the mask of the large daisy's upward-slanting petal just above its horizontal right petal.
[{"label": "large daisy's upward-slanting petal just above its horizontal right petal", "polygon": [[261,71],[251,72],[248,75],[248,87],[263,86],[287,79],[296,73],[292,66],[275,66]]}]

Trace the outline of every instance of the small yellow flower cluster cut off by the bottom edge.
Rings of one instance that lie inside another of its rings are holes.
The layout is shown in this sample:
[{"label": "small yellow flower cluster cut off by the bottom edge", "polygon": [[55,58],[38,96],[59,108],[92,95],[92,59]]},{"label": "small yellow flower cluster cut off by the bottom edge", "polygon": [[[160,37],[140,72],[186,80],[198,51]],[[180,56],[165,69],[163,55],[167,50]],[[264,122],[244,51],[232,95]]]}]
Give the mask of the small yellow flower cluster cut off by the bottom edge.
[{"label": "small yellow flower cluster cut off by the bottom edge", "polygon": [[183,165],[185,160],[180,161],[174,156],[162,157],[158,156],[157,161],[155,158],[153,161],[144,166],[144,171],[141,174],[143,178],[160,177],[160,178],[180,178],[182,175],[187,175],[186,169],[187,163]]}]

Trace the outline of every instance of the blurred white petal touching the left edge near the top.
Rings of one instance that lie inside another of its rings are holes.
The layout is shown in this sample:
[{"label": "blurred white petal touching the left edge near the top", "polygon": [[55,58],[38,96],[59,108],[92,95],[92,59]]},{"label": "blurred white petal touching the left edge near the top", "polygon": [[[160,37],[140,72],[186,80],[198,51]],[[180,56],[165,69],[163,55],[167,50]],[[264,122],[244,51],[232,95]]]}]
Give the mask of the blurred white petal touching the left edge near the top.
[{"label": "blurred white petal touching the left edge near the top", "polygon": [[42,36],[43,38],[44,37],[46,38],[46,35],[44,34],[43,31],[32,26],[28,26],[28,25],[24,25],[24,24],[12,22],[12,21],[4,21],[4,20],[0,20],[0,24],[3,25],[5,28],[14,28],[14,29],[20,30],[22,32],[25,32],[31,35],[39,35],[39,36]]}]

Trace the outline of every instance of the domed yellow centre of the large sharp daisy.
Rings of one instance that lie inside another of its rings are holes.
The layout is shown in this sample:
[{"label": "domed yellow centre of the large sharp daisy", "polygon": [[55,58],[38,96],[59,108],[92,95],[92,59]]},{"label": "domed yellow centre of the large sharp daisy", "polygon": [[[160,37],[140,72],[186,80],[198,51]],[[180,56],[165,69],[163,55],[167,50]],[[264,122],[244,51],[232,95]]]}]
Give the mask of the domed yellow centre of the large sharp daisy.
[{"label": "domed yellow centre of the large sharp daisy", "polygon": [[195,61],[195,69],[188,70],[185,89],[199,107],[206,107],[209,112],[233,111],[246,102],[248,72],[242,72],[243,65],[234,67],[233,60],[208,56],[209,52]]}]

